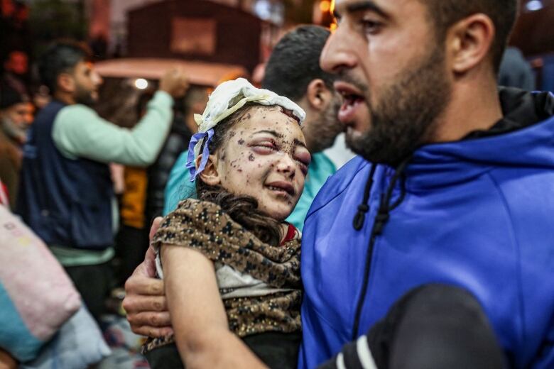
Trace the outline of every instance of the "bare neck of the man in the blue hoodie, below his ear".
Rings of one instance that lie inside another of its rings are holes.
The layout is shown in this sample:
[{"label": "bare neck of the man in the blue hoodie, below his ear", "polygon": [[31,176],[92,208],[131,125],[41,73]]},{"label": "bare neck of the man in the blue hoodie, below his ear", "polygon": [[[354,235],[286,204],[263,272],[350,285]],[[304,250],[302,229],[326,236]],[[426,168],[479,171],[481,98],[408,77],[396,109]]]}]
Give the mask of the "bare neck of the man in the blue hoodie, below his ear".
[{"label": "bare neck of the man in the blue hoodie, below his ear", "polygon": [[[480,82],[480,83],[479,83]],[[432,141],[458,141],[473,131],[487,131],[502,119],[496,81],[474,78],[456,82],[450,104],[438,122]]]}]

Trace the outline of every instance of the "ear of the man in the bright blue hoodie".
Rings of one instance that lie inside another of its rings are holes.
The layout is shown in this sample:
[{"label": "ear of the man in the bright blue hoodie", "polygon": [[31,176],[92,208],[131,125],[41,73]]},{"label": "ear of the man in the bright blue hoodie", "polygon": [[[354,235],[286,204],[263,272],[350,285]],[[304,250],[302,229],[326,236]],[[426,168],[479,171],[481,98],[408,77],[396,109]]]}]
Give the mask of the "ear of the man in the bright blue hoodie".
[{"label": "ear of the man in the bright blue hoodie", "polygon": [[451,26],[447,33],[447,54],[452,72],[463,74],[487,59],[494,35],[494,23],[483,13]]}]

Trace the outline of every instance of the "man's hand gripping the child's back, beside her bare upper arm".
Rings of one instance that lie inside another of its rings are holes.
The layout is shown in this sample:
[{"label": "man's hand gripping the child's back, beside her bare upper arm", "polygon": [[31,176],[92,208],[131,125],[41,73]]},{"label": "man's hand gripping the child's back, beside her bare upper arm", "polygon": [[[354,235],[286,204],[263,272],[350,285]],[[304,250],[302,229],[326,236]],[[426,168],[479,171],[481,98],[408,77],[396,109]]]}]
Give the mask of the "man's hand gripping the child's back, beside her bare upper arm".
[{"label": "man's hand gripping the child's back, beside her bare upper arm", "polygon": [[[150,239],[161,224],[161,217],[154,219],[150,229]],[[156,256],[148,248],[144,261],[136,267],[133,275],[125,282],[123,308],[131,330],[136,334],[150,337],[163,337],[173,334],[165,301],[163,280],[156,276]]]}]

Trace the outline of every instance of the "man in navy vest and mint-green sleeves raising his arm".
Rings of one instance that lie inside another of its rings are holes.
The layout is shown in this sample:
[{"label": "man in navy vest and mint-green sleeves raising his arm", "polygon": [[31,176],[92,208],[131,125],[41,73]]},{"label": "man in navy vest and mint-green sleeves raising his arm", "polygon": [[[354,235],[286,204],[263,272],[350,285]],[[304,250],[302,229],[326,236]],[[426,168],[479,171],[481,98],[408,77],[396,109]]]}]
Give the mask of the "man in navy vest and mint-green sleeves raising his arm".
[{"label": "man in navy vest and mint-green sleeves raising his arm", "polygon": [[95,317],[111,287],[118,211],[109,163],[146,166],[156,160],[173,117],[173,98],[188,87],[183,72],[168,71],[133,129],[91,109],[102,77],[85,45],[57,41],[39,60],[53,101],[36,116],[23,148],[17,212],[48,243]]}]

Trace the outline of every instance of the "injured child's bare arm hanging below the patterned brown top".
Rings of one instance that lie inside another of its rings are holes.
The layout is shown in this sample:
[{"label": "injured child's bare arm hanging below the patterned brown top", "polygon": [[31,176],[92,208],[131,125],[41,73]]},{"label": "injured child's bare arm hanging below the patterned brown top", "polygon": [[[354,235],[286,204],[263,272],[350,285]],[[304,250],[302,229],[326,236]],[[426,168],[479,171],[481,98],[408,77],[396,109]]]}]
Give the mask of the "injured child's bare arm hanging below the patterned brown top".
[{"label": "injured child's bare arm hanging below the patterned brown top", "polygon": [[165,296],[175,341],[194,368],[265,368],[231,331],[212,261],[191,248],[163,245]]}]

